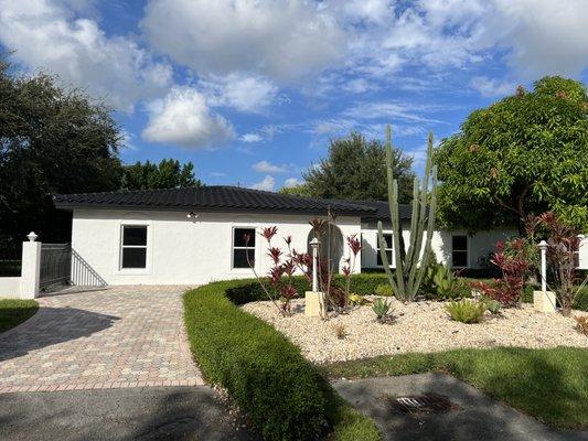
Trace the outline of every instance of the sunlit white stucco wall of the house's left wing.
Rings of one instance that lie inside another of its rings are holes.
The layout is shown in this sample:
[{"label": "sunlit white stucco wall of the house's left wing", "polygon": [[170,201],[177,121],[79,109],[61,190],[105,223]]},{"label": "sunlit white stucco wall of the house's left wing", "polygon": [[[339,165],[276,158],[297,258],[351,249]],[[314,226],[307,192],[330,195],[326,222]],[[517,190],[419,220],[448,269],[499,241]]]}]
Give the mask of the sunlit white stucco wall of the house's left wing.
[{"label": "sunlit white stucco wall of the house's left wing", "polygon": [[[272,245],[286,250],[282,237],[291,235],[292,247],[307,250],[313,216],[277,214],[75,209],[72,227],[73,282],[76,284],[202,284],[213,280],[252,277],[252,270],[232,269],[234,227],[277,226]],[[122,225],[147,225],[147,268],[120,268]],[[357,217],[338,217],[343,237],[360,233]],[[349,249],[345,245],[345,256]],[[271,266],[267,243],[257,236],[256,270],[267,273]],[[361,266],[357,263],[356,270]]]}]

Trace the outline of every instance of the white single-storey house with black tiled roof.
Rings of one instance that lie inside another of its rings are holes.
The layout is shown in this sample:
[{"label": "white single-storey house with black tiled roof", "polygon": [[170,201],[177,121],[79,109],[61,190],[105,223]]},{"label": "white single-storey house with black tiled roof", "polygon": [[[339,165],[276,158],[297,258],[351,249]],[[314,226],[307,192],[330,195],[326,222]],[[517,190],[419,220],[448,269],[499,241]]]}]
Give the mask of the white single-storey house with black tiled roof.
[{"label": "white single-storey house with black tiled roof", "polygon": [[[232,186],[149,190],[55,195],[57,208],[73,212],[72,282],[76,284],[201,284],[250,277],[246,256],[265,275],[270,267],[267,244],[256,233],[277,226],[272,245],[307,251],[312,238],[309,220],[336,215],[331,232],[331,259],[343,265],[350,250],[345,237],[362,238],[355,271],[382,268],[377,220],[388,224],[384,202],[313,200]],[[410,209],[400,207],[409,222]],[[408,239],[408,225],[404,236]],[[245,244],[243,236],[252,240]],[[432,249],[437,260],[453,268],[484,268],[494,244],[516,235],[515,229],[481,232],[437,230]],[[323,250],[323,252],[325,252]],[[393,260],[391,260],[393,261]]]}]

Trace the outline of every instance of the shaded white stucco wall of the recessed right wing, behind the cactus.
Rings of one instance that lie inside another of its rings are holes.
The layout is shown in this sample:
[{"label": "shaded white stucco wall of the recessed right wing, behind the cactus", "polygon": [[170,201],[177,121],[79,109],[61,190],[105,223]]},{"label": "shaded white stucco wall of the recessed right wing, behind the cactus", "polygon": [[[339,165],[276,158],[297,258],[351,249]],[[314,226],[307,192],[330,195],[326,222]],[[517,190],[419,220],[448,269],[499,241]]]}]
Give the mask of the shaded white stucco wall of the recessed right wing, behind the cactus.
[{"label": "shaded white stucco wall of the recessed right wing, behind the cactus", "polygon": [[[392,233],[391,229],[384,228],[384,233]],[[492,229],[487,232],[479,232],[474,235],[468,235],[464,230],[436,230],[432,235],[431,249],[435,252],[437,261],[443,265],[451,263],[451,237],[452,236],[468,237],[468,266],[467,268],[479,269],[484,267],[484,261],[488,256],[494,251],[495,244],[499,240],[505,240],[513,236],[517,236],[516,229]],[[410,238],[408,228],[403,229],[403,237],[406,246]],[[374,225],[363,224],[363,260],[364,268],[378,268],[377,266],[377,229]],[[394,259],[394,252],[393,252]],[[392,263],[394,265],[394,262]]]}]

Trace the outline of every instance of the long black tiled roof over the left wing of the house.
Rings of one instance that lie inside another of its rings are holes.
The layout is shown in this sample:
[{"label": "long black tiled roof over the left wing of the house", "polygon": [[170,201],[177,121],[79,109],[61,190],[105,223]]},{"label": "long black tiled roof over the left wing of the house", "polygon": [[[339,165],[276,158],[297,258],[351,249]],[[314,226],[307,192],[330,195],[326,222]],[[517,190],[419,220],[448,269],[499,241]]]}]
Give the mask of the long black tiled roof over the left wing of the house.
[{"label": "long black tiled roof over the left wing of the house", "polygon": [[376,216],[365,202],[318,200],[236,186],[138,190],[106,193],[56,194],[57,208],[197,209],[209,212],[258,212],[322,215],[331,207],[336,215]]}]

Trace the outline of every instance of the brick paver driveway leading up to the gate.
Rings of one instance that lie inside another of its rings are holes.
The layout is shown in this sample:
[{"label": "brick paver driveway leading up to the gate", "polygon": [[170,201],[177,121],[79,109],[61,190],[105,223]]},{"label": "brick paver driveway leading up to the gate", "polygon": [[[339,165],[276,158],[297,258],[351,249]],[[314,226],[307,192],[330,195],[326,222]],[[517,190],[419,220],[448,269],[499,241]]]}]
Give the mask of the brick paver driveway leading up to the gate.
[{"label": "brick paver driveway leading up to the gate", "polygon": [[0,392],[203,384],[192,362],[182,287],[108,287],[39,299],[0,334]]}]

